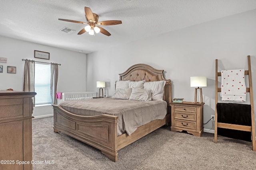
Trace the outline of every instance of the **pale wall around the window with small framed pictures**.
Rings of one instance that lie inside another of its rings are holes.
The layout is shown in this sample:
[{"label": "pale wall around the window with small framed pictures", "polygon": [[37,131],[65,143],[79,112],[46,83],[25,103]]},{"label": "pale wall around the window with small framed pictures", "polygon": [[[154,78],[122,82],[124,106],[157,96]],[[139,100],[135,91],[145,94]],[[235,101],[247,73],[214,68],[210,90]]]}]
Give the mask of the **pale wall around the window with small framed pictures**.
[{"label": "pale wall around the window with small framed pictures", "polygon": [[[50,53],[50,60],[34,58],[34,50]],[[22,91],[24,72],[24,61],[22,59],[32,59],[61,64],[58,66],[58,92],[86,91],[85,54],[0,37],[0,57],[7,58],[7,63],[0,63],[0,65],[3,65],[3,73],[0,73],[0,90],[12,88],[16,91]],[[16,66],[16,74],[7,73],[7,66]],[[34,107],[34,117],[44,117],[52,114],[52,106]]]}]

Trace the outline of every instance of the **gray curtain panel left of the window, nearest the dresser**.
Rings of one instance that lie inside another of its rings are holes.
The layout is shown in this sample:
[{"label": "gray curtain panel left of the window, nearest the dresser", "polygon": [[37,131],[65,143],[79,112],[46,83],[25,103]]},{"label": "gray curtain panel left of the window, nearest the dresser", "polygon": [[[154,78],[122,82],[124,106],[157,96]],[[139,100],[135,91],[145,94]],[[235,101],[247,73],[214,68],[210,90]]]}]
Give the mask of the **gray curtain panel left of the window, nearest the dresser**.
[{"label": "gray curtain panel left of the window, nearest the dresser", "polygon": [[[35,91],[35,61],[25,60],[24,66],[24,79],[23,79],[23,91],[34,92]],[[35,106],[35,97],[32,98],[33,106]]]}]

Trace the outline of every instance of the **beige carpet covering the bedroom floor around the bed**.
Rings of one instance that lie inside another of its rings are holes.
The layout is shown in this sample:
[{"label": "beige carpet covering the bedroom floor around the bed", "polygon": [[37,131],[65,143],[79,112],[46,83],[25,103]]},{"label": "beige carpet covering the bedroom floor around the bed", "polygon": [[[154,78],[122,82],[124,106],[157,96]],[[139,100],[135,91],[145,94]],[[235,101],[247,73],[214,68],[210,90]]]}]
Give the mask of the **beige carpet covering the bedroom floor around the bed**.
[{"label": "beige carpet covering the bedroom floor around the bed", "polygon": [[[250,142],[164,126],[119,150],[112,162],[100,150],[53,132],[53,117],[32,120],[33,170],[255,170]],[[52,164],[46,164],[51,162]]]}]

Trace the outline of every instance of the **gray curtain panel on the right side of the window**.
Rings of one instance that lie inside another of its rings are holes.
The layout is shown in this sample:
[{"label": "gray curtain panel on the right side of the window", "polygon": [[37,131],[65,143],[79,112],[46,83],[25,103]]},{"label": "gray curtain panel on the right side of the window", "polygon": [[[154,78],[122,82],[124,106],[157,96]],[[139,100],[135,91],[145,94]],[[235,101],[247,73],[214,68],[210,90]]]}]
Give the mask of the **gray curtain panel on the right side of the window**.
[{"label": "gray curtain panel on the right side of the window", "polygon": [[58,64],[51,63],[51,97],[52,104],[56,104],[56,92],[57,92],[57,83],[58,83]]}]

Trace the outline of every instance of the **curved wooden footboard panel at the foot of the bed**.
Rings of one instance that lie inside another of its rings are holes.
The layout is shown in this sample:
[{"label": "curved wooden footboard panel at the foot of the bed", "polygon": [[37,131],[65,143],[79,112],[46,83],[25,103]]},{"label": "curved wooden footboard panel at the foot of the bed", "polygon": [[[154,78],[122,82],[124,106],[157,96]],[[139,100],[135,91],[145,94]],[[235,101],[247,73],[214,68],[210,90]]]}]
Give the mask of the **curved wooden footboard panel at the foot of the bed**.
[{"label": "curved wooden footboard panel at the foot of the bed", "polygon": [[54,108],[54,132],[65,133],[102,151],[114,162],[118,158],[117,119],[114,115],[80,116],[64,110],[58,105]]}]

